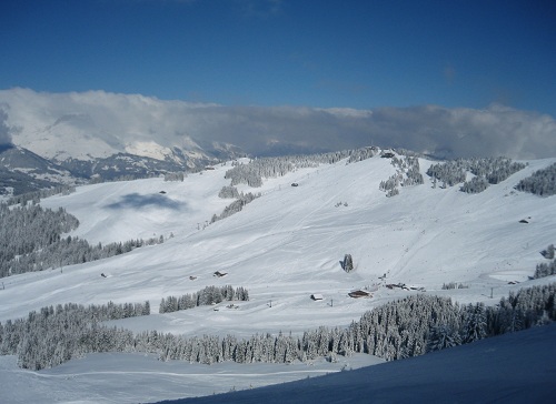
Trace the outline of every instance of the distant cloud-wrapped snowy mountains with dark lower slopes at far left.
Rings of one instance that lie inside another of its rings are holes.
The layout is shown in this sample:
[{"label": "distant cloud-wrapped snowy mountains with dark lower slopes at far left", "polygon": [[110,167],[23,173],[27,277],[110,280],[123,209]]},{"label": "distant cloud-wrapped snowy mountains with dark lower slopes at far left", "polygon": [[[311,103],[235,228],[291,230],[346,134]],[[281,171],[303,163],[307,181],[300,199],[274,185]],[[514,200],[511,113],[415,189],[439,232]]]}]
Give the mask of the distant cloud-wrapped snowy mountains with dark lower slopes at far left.
[{"label": "distant cloud-wrapped snowy mountains with dark lower slopes at far left", "polygon": [[[24,89],[2,93],[0,194],[195,172],[246,155],[227,142],[192,139],[187,122],[168,123],[163,102],[155,99],[103,92],[49,98]],[[122,112],[129,103],[132,112]]]}]

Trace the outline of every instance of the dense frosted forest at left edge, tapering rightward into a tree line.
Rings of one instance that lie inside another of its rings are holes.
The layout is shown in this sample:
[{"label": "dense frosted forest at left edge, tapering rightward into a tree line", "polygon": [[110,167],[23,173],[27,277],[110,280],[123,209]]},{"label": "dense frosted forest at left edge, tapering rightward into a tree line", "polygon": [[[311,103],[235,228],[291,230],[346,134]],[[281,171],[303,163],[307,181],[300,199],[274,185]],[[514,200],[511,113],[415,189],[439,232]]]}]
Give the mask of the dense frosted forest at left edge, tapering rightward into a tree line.
[{"label": "dense frosted forest at left edge, tapering rightward into a tree line", "polygon": [[163,242],[163,236],[158,236],[90,245],[77,236],[62,238],[78,225],[78,219],[62,208],[9,208],[0,203],[0,277],[101,260]]}]

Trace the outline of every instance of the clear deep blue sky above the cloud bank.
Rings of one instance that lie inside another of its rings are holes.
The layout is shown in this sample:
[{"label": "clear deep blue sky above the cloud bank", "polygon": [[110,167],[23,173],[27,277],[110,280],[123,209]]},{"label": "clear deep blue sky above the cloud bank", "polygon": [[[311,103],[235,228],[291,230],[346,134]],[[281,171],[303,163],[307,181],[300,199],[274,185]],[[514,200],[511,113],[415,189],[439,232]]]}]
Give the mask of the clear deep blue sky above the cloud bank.
[{"label": "clear deep blue sky above the cloud bank", "polygon": [[4,0],[0,89],[556,117],[550,1]]}]

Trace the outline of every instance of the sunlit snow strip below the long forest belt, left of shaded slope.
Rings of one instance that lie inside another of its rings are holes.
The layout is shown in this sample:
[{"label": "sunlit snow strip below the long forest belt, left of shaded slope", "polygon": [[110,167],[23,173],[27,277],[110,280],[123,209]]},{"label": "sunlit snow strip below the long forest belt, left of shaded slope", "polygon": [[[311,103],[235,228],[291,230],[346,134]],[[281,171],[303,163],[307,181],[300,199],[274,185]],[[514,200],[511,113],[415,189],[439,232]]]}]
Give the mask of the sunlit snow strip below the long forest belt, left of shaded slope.
[{"label": "sunlit snow strip below the long forest belt, left of shaded slope", "polygon": [[[156,355],[105,353],[32,372],[17,366],[16,356],[0,356],[0,402],[146,403],[221,394],[322,376],[383,363],[371,355],[324,360],[312,364],[189,364],[160,362]],[[10,386],[10,388],[3,388]]]}]

